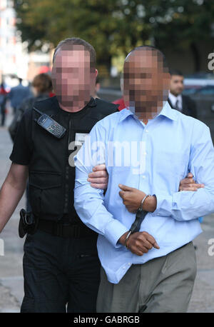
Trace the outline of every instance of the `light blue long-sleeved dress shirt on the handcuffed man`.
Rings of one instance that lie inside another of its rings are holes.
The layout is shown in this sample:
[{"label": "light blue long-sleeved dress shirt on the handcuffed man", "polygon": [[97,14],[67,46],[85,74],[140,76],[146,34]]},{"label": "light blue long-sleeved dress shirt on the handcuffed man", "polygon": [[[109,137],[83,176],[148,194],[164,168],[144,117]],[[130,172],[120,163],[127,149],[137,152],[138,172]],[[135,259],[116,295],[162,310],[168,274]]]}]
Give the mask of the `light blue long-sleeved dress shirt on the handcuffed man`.
[{"label": "light blue long-sleeved dress shirt on the handcuffed man", "polygon": [[[146,125],[127,109],[98,121],[74,160],[74,206],[83,223],[99,233],[98,256],[111,283],[118,283],[132,264],[165,256],[192,241],[202,232],[198,217],[214,212],[210,130],[168,102]],[[93,166],[103,162],[109,174],[105,196],[87,181]],[[205,187],[179,192],[180,180],[190,171]],[[140,231],[156,238],[160,249],[137,256],[118,243],[136,217],[123,205],[119,183],[156,195],[156,211],[146,215]]]}]

